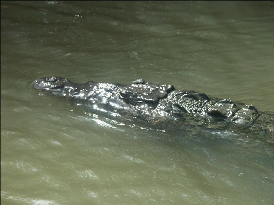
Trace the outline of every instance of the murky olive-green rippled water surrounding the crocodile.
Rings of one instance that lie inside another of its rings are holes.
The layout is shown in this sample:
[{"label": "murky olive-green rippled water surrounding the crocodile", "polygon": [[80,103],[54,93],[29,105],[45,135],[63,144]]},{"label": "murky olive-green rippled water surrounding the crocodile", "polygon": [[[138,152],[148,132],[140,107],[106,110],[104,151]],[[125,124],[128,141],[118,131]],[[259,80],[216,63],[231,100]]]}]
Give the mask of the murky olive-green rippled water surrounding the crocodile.
[{"label": "murky olive-green rippled water surrounding the crocodile", "polygon": [[2,1],[1,204],[273,204],[273,145],[122,124],[31,87],[144,78],[273,112],[273,53],[273,2]]}]

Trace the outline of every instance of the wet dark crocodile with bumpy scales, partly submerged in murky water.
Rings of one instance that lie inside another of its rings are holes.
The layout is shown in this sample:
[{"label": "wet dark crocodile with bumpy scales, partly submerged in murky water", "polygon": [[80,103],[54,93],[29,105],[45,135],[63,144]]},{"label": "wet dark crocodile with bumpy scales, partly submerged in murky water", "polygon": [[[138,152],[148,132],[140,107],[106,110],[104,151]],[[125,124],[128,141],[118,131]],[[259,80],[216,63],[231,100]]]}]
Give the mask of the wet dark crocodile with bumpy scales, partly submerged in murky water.
[{"label": "wet dark crocodile with bumpy scales, partly submerged in murky water", "polygon": [[[244,132],[274,144],[274,113],[193,90],[176,90],[136,79],[131,85],[72,83],[63,77],[35,79],[33,88],[71,99],[96,112],[147,121],[159,128],[205,127]],[[194,127],[193,127],[194,126]]]}]

